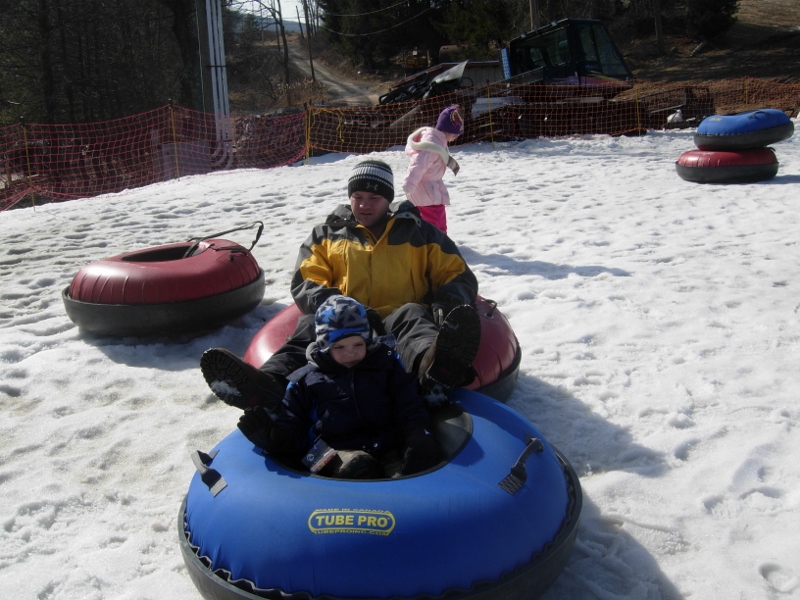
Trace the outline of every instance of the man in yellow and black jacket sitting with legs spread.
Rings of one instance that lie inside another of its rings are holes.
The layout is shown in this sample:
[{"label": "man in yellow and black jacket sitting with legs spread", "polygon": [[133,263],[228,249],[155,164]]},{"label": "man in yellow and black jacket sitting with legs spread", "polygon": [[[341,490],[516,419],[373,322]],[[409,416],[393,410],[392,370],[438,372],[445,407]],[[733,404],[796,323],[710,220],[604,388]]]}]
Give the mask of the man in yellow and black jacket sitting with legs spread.
[{"label": "man in yellow and black jacket sitting with legs spread", "polygon": [[333,295],[356,299],[378,333],[394,336],[431,405],[469,383],[480,344],[472,307],[478,282],[455,243],[411,202],[391,204],[394,178],[384,162],[356,165],[347,191],[349,206],[339,206],[300,247],[291,291],[303,316],[287,343],[260,369],[221,348],[204,353],[203,375],[228,404],[280,402],[288,375],[307,363],[313,315]]}]

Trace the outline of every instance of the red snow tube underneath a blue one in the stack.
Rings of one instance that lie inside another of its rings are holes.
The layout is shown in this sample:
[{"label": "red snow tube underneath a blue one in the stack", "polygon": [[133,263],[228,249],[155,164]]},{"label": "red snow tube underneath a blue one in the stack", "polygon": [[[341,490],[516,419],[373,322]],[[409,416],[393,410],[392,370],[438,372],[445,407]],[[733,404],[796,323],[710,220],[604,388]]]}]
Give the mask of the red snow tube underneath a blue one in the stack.
[{"label": "red snow tube underneath a blue one in the stack", "polygon": [[678,158],[675,169],[681,179],[695,183],[752,183],[775,177],[778,159],[772,148],[690,150]]}]

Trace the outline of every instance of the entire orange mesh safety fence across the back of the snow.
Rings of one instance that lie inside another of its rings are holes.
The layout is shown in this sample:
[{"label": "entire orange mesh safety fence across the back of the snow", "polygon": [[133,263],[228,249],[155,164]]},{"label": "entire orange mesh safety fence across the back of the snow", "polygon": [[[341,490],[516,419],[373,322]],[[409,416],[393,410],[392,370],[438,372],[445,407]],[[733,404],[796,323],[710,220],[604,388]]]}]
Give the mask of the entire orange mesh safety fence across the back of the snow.
[{"label": "entire orange mesh safety fence across the back of the snow", "polygon": [[[166,106],[115,121],[0,128],[0,210],[30,196],[71,200],[183,175],[271,168],[312,154],[403,146],[443,108],[462,106],[456,145],[575,134],[641,135],[705,116],[777,108],[797,116],[800,84],[752,78],[630,86],[486,84],[412,102],[281,116],[222,117]],[[678,111],[680,115],[678,116]]]}]

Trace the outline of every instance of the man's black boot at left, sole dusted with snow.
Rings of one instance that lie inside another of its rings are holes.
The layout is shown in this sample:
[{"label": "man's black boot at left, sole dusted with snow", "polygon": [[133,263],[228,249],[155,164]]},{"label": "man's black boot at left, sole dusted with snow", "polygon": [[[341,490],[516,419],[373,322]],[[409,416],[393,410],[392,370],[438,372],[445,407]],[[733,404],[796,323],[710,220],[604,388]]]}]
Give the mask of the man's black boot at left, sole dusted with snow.
[{"label": "man's black boot at left, sole dusted with snow", "polygon": [[206,350],[200,358],[200,370],[211,391],[236,408],[264,406],[274,411],[283,401],[285,384],[224,348]]}]

